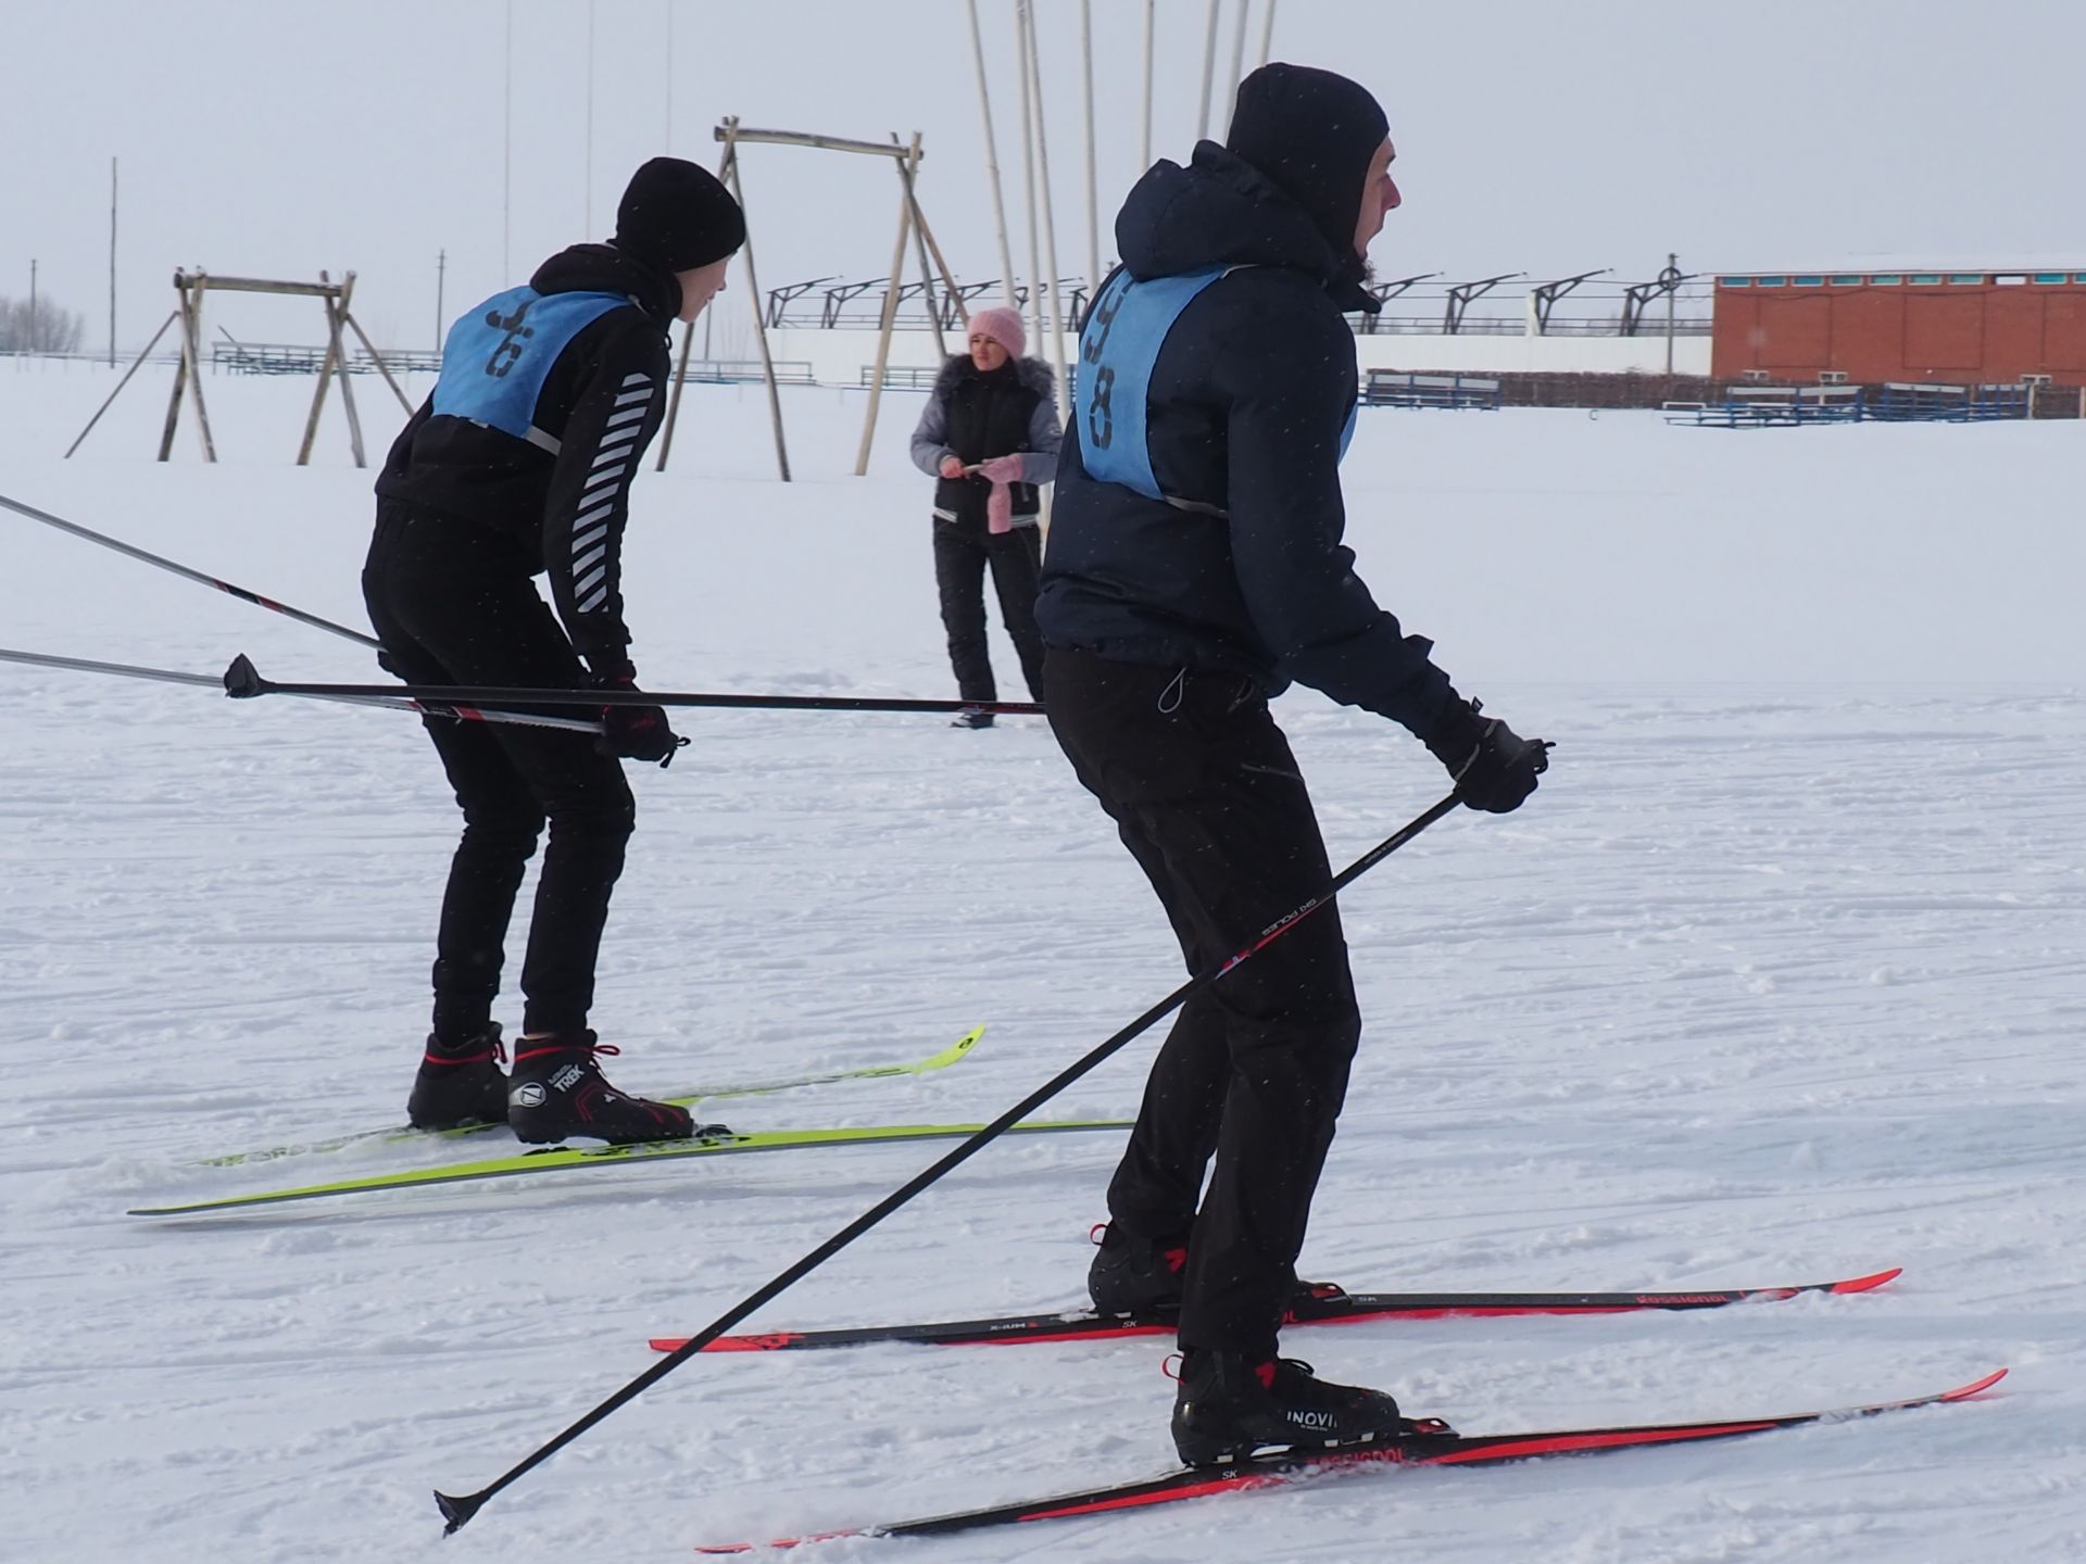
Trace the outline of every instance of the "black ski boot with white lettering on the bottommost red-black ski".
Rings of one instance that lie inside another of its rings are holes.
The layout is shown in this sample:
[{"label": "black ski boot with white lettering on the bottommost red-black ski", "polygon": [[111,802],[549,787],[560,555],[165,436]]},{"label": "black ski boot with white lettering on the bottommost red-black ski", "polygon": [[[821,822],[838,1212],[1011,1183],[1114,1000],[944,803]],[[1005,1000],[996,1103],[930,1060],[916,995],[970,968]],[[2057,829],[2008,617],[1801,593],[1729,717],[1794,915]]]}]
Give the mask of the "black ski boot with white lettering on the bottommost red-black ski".
[{"label": "black ski boot with white lettering on the bottommost red-black ski", "polygon": [[1412,1433],[1398,1401],[1360,1385],[1333,1385],[1295,1358],[1264,1364],[1237,1351],[1185,1351],[1174,1395],[1174,1449],[1189,1466],[1264,1447],[1364,1445]]}]

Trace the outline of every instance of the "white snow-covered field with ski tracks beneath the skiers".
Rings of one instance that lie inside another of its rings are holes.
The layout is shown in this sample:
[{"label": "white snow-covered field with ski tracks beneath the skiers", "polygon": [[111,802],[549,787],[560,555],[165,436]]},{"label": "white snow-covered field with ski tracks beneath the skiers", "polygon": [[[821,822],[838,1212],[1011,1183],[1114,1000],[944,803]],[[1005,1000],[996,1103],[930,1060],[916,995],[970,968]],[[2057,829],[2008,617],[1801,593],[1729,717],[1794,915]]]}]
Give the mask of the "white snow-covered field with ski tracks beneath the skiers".
[{"label": "white snow-covered field with ski tracks beneath the skiers", "polygon": [[[361,626],[369,475],[311,382],[0,367],[0,492]],[[398,411],[359,382],[375,450]],[[916,396],[693,390],[634,492],[655,688],[951,692]],[[1304,1272],[1350,1289],[1809,1282],[1715,1314],[1291,1330],[1471,1431],[1988,1399],[1859,1426],[1329,1481],[807,1558],[2086,1558],[2086,425],[1713,432],[1362,415],[1366,580],[1458,684],[1558,742],[1345,899],[1366,1034]],[[0,513],[0,644],[371,680],[367,655]],[[995,632],[997,636],[997,632]],[[1012,653],[995,640],[1005,682]],[[453,807],[403,715],[0,667],[0,1558],[676,1560],[1156,1472],[1164,1341],[695,1360],[440,1541],[469,1491],[932,1149],[590,1170],[186,1224],[125,1207],[405,1168]],[[1444,792],[1387,724],[1283,701],[1337,863]],[[638,1091],[914,1057],[736,1128],[987,1118],[1179,980],[1041,722],[688,713],[632,769],[597,1024]],[[519,940],[513,947],[517,963]],[[509,1028],[519,1003],[503,1001]],[[1126,1116],[1151,1041],[1051,1111]],[[1003,1143],[755,1324],[1083,1295],[1112,1134]]]}]

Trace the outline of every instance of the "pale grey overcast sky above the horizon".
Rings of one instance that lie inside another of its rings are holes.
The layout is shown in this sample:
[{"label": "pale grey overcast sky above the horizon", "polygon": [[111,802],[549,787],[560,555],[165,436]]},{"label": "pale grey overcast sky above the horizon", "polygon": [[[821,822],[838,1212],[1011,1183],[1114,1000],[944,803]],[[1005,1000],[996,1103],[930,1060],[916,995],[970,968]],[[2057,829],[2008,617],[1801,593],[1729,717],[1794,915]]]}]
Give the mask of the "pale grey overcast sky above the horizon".
[{"label": "pale grey overcast sky above the horizon", "polygon": [[[1220,77],[1237,4],[1222,6]],[[1250,4],[1252,58],[1266,0]],[[1018,200],[1014,4],[978,8]],[[1074,275],[1078,4],[1037,10],[1060,271]],[[551,250],[607,236],[645,156],[713,165],[722,115],[868,140],[922,131],[922,200],[951,265],[997,275],[962,0],[513,0],[511,13],[503,256],[507,0],[6,0],[0,296],[27,294],[35,259],[44,296],[83,311],[88,342],[106,344],[119,156],[119,344],[136,350],[171,309],[173,269],[200,265],[355,269],[371,336],[432,346],[438,250],[453,317]],[[1103,263],[1139,171],[1143,13],[1143,0],[1093,2]],[[1206,0],[1158,4],[1154,156],[1193,146],[1206,19]],[[1389,111],[1406,206],[1377,244],[1383,275],[1638,279],[1667,250],[1692,271],[1869,252],[2086,269],[2086,0],[1279,0],[1275,58],[1348,71]],[[880,163],[755,148],[747,181],[766,286],[887,271],[897,181]],[[1024,269],[1020,256],[1016,236]],[[221,296],[211,323],[317,336],[305,300]]]}]

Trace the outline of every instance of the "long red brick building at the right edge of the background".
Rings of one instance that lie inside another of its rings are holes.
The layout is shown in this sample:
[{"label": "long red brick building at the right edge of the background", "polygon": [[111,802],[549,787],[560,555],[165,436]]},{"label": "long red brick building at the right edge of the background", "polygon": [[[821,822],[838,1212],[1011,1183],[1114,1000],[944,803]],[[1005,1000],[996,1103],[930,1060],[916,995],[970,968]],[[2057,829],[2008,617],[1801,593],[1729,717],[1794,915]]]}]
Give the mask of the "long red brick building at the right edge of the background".
[{"label": "long red brick building at the right edge of the background", "polygon": [[1711,375],[2086,386],[2086,271],[1740,271],[1717,277]]}]

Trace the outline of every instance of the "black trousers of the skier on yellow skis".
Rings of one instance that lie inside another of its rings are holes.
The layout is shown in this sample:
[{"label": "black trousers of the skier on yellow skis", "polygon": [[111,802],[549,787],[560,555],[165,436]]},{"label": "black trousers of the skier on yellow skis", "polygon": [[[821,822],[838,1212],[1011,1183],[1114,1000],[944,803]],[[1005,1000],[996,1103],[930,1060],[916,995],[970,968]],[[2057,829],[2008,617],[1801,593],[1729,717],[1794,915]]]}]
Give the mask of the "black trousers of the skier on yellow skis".
[{"label": "black trousers of the skier on yellow skis", "polygon": [[[380,498],[363,601],[384,642],[378,661],[413,684],[569,690],[584,674],[522,546],[469,521]],[[588,713],[559,707],[557,715]],[[555,728],[448,717],[426,726],[463,809],[436,934],[434,1034],[459,1041],[490,1020],[515,893],[544,820],[551,842],[522,963],[522,1030],[584,1030],[601,928],[636,822],[622,763],[597,755],[590,736]]]}]

